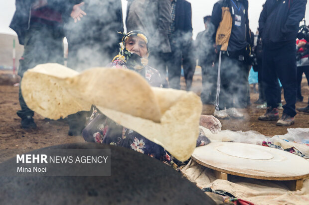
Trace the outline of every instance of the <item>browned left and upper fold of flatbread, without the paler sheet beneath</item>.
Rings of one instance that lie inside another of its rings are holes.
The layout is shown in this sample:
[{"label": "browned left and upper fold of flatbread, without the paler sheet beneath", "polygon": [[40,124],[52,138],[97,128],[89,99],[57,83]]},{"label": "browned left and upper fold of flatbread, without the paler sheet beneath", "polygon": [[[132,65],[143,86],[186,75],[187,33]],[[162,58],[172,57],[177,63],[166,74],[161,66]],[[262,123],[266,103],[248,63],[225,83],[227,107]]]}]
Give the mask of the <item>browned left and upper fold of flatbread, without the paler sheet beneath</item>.
[{"label": "browned left and upper fold of flatbread, without the paler sheet beneath", "polygon": [[129,70],[92,68],[79,74],[59,64],[41,64],[25,73],[21,90],[27,106],[50,119],[90,110],[92,104],[154,122],[161,117],[148,82]]}]

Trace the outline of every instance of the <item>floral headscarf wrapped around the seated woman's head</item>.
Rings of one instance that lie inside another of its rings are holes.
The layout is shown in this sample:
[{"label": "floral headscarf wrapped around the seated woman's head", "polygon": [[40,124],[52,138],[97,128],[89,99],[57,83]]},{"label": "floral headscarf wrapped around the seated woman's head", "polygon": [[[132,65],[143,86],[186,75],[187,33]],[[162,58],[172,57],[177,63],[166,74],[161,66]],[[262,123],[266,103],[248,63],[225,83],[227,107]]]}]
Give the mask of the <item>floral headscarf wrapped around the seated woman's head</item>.
[{"label": "floral headscarf wrapped around the seated woman's head", "polygon": [[134,31],[130,31],[128,34],[123,33],[123,35],[124,37],[122,38],[121,43],[120,43],[119,53],[117,56],[114,57],[113,61],[121,60],[127,64],[128,68],[133,68],[133,69],[144,68],[144,66],[148,64],[148,60],[129,51],[126,48],[126,40],[130,36],[138,36],[142,38],[146,42],[146,45],[147,45],[147,57],[148,57],[150,54],[150,49],[149,49],[149,44],[148,44],[149,41],[148,41],[148,38],[146,37],[146,34],[142,31],[134,30]]}]

